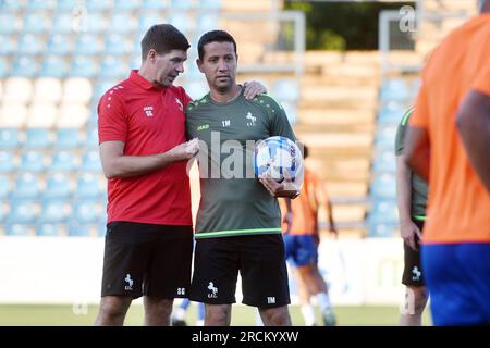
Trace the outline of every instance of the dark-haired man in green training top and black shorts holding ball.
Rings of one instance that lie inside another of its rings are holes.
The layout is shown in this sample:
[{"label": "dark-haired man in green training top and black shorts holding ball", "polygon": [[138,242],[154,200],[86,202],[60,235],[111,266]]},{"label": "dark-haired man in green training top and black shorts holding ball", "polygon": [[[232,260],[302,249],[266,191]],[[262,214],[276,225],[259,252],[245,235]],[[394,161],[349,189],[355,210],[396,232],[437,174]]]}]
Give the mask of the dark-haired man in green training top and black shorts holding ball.
[{"label": "dark-haired man in green training top and black shorts holding ball", "polygon": [[[250,164],[256,141],[296,138],[272,98],[244,99],[235,82],[236,42],[230,34],[203,35],[197,65],[210,92],[186,109],[187,138],[199,139],[201,191],[189,299],[206,304],[205,325],[230,325],[240,271],[243,303],[257,307],[266,325],[291,325],[275,197],[298,192],[273,179],[259,182]],[[291,210],[286,217],[291,220]]]}]

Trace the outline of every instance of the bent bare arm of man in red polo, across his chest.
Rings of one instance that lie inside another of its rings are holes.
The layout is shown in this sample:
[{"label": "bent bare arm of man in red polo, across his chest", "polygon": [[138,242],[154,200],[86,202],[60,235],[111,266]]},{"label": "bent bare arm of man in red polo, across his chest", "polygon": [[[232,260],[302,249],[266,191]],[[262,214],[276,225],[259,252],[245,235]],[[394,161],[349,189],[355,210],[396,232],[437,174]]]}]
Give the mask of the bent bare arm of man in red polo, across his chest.
[{"label": "bent bare arm of man in red polo, across his chest", "polygon": [[133,177],[160,170],[173,162],[191,159],[197,152],[188,141],[173,149],[151,156],[125,156],[124,142],[105,141],[100,145],[100,160],[107,178]]}]

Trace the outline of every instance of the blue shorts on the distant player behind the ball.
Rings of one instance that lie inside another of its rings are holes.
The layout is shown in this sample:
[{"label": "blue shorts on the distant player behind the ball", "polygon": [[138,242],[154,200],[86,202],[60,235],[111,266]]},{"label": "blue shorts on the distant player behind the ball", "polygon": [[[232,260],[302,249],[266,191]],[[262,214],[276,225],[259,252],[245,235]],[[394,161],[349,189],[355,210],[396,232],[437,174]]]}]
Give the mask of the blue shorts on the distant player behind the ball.
[{"label": "blue shorts on the distant player behind the ball", "polygon": [[283,238],[285,258],[291,265],[317,264],[318,250],[313,235],[283,235]]}]

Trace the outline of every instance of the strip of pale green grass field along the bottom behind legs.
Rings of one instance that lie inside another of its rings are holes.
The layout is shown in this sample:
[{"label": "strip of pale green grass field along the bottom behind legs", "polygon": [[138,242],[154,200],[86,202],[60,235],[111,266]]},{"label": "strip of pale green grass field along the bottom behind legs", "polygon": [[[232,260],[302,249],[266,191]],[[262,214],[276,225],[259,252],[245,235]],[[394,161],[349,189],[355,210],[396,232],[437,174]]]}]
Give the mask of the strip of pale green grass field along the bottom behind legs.
[{"label": "strip of pale green grass field along the bottom behind legs", "polygon": [[[97,311],[97,306],[89,306],[86,310],[77,311],[71,306],[1,304],[0,326],[87,326],[94,324]],[[293,324],[304,325],[299,307],[291,306],[290,311]],[[397,307],[336,307],[335,312],[340,326],[397,325],[400,316]],[[256,310],[254,308],[240,304],[234,306],[232,325],[255,325],[255,313]],[[196,306],[192,306],[187,322],[194,323],[195,316]],[[142,322],[143,306],[135,303],[130,308],[125,325],[138,326],[142,325]],[[424,324],[431,324],[428,311],[424,315]]]}]

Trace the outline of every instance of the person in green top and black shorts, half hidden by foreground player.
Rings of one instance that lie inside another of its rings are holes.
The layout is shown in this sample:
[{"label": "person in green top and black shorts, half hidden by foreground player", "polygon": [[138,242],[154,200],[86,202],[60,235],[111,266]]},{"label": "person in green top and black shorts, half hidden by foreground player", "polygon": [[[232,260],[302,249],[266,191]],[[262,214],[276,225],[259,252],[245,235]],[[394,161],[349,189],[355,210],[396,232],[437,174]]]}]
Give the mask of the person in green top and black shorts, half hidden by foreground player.
[{"label": "person in green top and black shorts, half hidden by foreground player", "polygon": [[402,117],[395,138],[396,200],[405,256],[402,283],[406,286],[404,308],[400,318],[402,326],[421,325],[421,314],[428,299],[419,251],[426,220],[427,182],[409,170],[403,156],[405,133],[413,111],[414,109],[409,109]]}]

